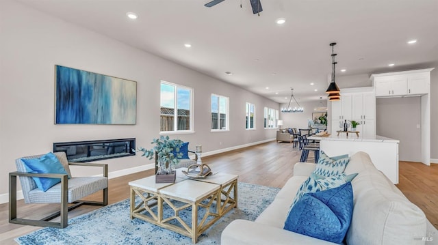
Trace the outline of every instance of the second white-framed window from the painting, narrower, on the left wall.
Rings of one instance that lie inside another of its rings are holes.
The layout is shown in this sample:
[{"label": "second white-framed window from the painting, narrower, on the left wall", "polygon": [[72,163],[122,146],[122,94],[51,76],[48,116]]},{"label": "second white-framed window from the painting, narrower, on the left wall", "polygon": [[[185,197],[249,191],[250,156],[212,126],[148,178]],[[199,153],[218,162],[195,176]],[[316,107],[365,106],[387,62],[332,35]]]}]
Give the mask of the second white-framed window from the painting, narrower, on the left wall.
[{"label": "second white-framed window from the painting, narrower, on the left wall", "polygon": [[229,98],[211,94],[211,130],[229,130]]}]

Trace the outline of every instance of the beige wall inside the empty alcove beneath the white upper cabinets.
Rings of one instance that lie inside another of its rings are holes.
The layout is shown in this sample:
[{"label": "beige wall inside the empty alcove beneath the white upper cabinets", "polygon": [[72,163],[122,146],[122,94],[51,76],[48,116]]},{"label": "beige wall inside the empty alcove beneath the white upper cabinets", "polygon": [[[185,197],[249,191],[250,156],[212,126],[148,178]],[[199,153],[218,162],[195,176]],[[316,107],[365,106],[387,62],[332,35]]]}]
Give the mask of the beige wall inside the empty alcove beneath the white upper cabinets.
[{"label": "beige wall inside the empty alcove beneath the white upper cabinets", "polygon": [[376,134],[398,139],[398,158],[421,162],[421,98],[376,99]]}]

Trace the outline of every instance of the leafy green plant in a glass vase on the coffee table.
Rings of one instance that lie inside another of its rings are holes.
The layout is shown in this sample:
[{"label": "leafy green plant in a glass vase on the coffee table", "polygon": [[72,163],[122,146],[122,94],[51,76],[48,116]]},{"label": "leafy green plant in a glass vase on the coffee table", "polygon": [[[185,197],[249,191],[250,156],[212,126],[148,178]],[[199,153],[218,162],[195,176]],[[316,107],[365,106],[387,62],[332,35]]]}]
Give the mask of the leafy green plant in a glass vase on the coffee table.
[{"label": "leafy green plant in a glass vase on the coffee table", "polygon": [[[138,151],[143,152],[149,160],[157,159],[155,166],[155,183],[173,183],[175,182],[176,171],[175,165],[179,162],[179,151],[183,141],[179,139],[170,139],[169,136],[159,136],[159,139],[153,139],[151,144],[155,144],[152,149],[139,147]],[[197,147],[196,147],[197,149]]]}]

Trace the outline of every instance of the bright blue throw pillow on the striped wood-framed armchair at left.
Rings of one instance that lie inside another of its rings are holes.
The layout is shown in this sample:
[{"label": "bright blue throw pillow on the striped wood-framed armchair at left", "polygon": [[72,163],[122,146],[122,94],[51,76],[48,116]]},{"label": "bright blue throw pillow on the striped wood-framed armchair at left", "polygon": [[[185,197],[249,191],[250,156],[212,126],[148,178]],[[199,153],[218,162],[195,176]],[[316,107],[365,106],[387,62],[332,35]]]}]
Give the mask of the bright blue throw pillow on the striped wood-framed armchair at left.
[{"label": "bright blue throw pillow on the striped wood-framed armchair at left", "polygon": [[[40,158],[25,159],[21,158],[25,165],[27,173],[62,173],[68,174],[60,160],[55,154],[49,152]],[[49,188],[61,182],[60,178],[32,177],[36,186],[42,191],[47,191]]]}]

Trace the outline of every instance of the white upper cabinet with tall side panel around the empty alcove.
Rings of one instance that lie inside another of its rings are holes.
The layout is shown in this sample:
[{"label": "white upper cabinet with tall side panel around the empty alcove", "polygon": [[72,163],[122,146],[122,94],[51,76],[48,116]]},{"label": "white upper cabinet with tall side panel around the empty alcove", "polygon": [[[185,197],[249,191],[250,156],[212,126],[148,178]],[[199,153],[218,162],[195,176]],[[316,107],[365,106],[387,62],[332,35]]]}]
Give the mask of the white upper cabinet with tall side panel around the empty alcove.
[{"label": "white upper cabinet with tall side panel around the empty alcove", "polygon": [[430,165],[430,72],[435,68],[372,74],[376,98],[421,96],[422,163]]}]

